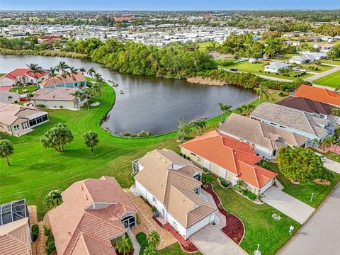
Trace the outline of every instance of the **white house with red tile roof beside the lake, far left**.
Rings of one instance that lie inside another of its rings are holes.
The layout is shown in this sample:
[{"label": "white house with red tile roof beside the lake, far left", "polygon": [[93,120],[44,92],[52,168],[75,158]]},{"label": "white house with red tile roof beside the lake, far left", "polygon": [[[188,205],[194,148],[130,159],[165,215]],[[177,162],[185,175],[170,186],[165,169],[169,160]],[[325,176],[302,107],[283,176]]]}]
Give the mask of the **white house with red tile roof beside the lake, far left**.
[{"label": "white house with red tile roof beside the lake, far left", "polygon": [[28,68],[15,69],[0,77],[0,87],[13,86],[16,84],[37,84],[48,77],[48,72],[43,71],[35,75],[38,79],[35,78],[34,74],[31,73]]}]

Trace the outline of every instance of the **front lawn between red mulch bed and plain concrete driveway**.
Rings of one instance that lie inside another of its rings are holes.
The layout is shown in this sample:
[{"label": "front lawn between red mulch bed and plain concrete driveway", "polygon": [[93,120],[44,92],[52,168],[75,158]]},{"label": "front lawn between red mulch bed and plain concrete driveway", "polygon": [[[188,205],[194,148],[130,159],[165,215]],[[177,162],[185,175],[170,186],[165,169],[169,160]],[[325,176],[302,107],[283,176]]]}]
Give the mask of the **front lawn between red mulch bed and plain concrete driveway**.
[{"label": "front lawn between red mulch bed and plain concrete driveway", "polygon": [[[234,192],[232,188],[221,188],[217,181],[212,184],[225,209],[237,215],[244,223],[246,232],[241,247],[249,254],[254,253],[257,244],[260,244],[262,254],[276,254],[292,236],[289,227],[295,227],[294,231],[300,227],[298,222],[269,205],[256,205]],[[274,220],[273,213],[280,215],[281,220]]]}]

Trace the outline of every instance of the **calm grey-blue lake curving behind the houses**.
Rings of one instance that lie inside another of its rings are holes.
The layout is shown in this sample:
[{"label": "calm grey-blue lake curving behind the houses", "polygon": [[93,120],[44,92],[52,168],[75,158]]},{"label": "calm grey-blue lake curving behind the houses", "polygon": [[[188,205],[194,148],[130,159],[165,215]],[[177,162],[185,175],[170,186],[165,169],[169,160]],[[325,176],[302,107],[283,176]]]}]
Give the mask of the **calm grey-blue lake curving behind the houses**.
[{"label": "calm grey-blue lake curving behind the houses", "polygon": [[[0,73],[25,68],[29,63],[50,69],[60,61],[75,68],[85,67],[86,70],[94,67],[103,79],[118,83],[118,87],[115,88],[115,106],[102,125],[114,134],[141,130],[151,131],[153,134],[170,132],[176,130],[177,120],[212,118],[219,115],[220,108],[217,102],[237,108],[254,101],[257,97],[253,90],[237,86],[205,86],[191,84],[184,79],[120,74],[89,60],[67,57],[0,55]],[[123,90],[124,94],[120,94],[120,90]]]}]

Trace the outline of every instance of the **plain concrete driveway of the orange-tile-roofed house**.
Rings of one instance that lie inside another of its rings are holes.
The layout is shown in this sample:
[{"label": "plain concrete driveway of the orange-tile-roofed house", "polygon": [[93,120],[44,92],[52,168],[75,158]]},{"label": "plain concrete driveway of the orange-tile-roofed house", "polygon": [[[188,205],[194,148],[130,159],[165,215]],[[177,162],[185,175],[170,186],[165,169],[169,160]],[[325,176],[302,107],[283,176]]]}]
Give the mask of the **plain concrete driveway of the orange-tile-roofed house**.
[{"label": "plain concrete driveway of the orange-tile-roofed house", "polygon": [[300,224],[303,224],[315,210],[310,205],[302,203],[300,200],[293,198],[293,196],[284,193],[279,187],[269,188],[264,193],[262,200]]}]

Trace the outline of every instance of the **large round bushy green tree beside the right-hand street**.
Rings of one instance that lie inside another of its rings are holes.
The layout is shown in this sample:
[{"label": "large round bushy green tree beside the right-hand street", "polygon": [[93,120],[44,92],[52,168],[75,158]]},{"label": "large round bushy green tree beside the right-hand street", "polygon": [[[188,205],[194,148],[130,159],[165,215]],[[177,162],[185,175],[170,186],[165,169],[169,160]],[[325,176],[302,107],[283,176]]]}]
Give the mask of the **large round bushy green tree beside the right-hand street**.
[{"label": "large round bushy green tree beside the right-hand street", "polygon": [[293,181],[331,179],[332,174],[324,168],[322,160],[312,149],[283,147],[278,153],[280,173]]}]

